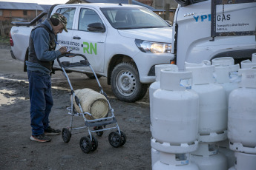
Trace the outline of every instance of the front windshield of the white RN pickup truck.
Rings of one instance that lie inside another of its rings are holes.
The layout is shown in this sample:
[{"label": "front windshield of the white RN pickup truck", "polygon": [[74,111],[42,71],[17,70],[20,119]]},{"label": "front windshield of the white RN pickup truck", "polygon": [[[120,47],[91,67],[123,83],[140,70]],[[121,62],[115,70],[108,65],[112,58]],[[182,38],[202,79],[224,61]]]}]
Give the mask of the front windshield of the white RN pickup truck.
[{"label": "front windshield of the white RN pickup truck", "polygon": [[112,27],[125,29],[171,27],[151,10],[136,7],[101,8]]}]

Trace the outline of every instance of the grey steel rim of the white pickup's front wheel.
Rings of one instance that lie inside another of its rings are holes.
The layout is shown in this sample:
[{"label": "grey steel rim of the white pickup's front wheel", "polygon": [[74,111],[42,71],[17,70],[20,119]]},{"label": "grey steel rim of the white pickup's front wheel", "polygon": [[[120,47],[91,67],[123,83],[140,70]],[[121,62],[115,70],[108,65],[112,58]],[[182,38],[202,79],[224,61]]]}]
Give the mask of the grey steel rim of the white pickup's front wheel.
[{"label": "grey steel rim of the white pickup's front wheel", "polygon": [[128,70],[122,70],[116,76],[116,87],[122,95],[132,95],[136,88],[135,76]]}]

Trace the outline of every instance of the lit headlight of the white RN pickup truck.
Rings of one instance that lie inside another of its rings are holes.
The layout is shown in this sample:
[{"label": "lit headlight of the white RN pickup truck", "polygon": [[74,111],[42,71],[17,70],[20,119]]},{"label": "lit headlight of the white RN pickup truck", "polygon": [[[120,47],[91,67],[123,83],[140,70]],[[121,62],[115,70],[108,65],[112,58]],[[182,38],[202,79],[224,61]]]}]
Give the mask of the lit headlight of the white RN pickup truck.
[{"label": "lit headlight of the white RN pickup truck", "polygon": [[171,43],[160,43],[135,39],[135,44],[142,52],[171,53]]}]

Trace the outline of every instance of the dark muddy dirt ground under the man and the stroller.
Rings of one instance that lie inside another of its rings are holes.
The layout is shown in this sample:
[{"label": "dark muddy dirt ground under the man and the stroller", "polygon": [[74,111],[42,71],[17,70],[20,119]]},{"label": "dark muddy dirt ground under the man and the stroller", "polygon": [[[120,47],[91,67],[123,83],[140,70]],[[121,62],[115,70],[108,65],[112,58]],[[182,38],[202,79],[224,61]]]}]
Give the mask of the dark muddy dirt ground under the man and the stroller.
[{"label": "dark muddy dirt ground under the man and the stroller", "polygon": [[[85,154],[79,147],[82,133],[72,135],[64,143],[61,135],[51,136],[50,143],[30,140],[30,101],[27,72],[21,61],[13,60],[10,47],[0,47],[0,169],[151,169],[151,132],[148,93],[142,101],[125,103],[118,101],[106,78],[99,78],[103,90],[110,98],[116,120],[125,132],[124,146],[114,148],[108,143],[105,131],[98,139],[95,152]],[[99,92],[95,80],[82,73],[68,74],[73,89],[91,88]],[[50,113],[50,126],[62,129],[70,125],[70,87],[67,79],[58,71],[52,77],[54,106]],[[75,126],[84,126],[82,117],[76,117]]]}]

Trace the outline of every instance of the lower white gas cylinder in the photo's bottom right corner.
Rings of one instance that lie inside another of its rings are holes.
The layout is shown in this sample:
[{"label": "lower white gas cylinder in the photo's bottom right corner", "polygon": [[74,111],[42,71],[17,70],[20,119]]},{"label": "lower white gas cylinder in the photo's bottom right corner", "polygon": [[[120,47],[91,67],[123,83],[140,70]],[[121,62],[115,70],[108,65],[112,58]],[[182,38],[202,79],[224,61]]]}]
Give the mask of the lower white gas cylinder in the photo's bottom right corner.
[{"label": "lower white gas cylinder in the photo's bottom right corner", "polygon": [[234,152],[236,163],[235,170],[255,170],[256,169],[256,154],[246,154],[241,152]]}]

